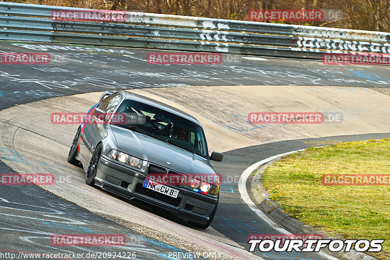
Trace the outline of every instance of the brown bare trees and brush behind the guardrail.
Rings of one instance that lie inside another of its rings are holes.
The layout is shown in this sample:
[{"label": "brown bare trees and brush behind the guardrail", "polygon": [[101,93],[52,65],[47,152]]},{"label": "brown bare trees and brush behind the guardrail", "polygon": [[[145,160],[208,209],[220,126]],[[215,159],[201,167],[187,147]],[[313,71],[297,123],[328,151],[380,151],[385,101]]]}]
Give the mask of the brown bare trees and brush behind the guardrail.
[{"label": "brown bare trees and brush behind the guardrail", "polygon": [[390,0],[15,0],[13,2],[237,20],[249,20],[248,11],[251,9],[340,9],[344,13],[341,20],[285,21],[284,23],[390,32]]}]

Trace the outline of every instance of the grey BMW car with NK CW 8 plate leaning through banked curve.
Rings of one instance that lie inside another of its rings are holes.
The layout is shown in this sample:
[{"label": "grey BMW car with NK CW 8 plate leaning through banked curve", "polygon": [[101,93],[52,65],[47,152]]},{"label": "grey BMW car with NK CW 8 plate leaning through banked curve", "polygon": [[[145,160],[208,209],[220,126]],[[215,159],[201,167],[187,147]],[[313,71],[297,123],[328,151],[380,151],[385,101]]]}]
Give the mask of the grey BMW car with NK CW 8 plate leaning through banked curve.
[{"label": "grey BMW car with NK CW 8 plate leaning through banked curve", "polygon": [[107,91],[87,113],[68,154],[85,182],[125,199],[175,212],[207,228],[215,216],[221,177],[204,131],[193,116],[154,99]]}]

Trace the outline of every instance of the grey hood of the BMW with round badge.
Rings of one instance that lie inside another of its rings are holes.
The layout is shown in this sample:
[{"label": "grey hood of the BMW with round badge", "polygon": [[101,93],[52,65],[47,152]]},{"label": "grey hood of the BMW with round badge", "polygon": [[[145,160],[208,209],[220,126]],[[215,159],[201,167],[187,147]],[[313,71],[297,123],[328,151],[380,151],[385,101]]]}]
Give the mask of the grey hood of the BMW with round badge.
[{"label": "grey hood of the BMW with round badge", "polygon": [[211,163],[197,154],[118,126],[111,126],[111,129],[119,151],[181,173],[216,174]]}]

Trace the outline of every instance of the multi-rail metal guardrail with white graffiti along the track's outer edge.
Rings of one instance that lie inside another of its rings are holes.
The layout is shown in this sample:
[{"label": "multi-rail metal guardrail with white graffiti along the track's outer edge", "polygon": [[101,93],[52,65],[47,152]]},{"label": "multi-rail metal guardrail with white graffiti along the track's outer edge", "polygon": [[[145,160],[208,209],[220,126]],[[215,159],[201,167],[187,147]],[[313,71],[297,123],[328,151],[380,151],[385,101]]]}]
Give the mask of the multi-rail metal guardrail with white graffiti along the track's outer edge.
[{"label": "multi-rail metal guardrail with white graffiti along the track's outer edge", "polygon": [[93,11],[0,2],[0,39],[305,58],[390,53],[385,32],[138,12],[126,12],[124,22],[47,19],[58,10]]}]

